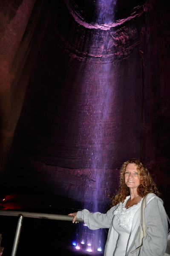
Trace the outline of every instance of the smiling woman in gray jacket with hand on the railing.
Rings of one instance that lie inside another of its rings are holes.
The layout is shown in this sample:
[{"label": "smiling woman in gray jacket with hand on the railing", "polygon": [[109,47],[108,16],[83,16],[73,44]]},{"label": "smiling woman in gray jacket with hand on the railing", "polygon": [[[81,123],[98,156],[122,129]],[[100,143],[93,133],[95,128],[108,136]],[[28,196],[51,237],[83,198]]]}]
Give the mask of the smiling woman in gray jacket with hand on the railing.
[{"label": "smiling woman in gray jacket with hand on the railing", "polygon": [[[147,195],[148,193],[151,193]],[[140,246],[141,202],[147,195],[144,209],[146,233]],[[131,159],[123,164],[118,195],[106,214],[84,209],[70,213],[82,218],[89,229],[109,228],[104,256],[163,256],[167,247],[167,216],[163,201],[146,166],[141,160]]]}]

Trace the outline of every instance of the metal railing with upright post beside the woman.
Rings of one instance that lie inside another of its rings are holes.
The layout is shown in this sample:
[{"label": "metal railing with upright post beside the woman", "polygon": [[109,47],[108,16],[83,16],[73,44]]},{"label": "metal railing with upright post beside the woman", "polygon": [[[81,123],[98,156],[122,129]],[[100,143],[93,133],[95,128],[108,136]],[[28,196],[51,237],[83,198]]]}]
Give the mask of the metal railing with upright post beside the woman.
[{"label": "metal railing with upright post beside the woman", "polygon": [[[59,220],[59,221],[72,221],[73,216],[68,215],[58,215],[58,214],[49,214],[49,213],[36,213],[36,212],[15,212],[15,211],[0,211],[0,215],[8,216],[18,216],[17,230],[14,237],[14,243],[12,247],[11,256],[15,256],[17,253],[17,247],[20,239],[20,232],[23,224],[23,218],[45,218],[50,220]],[[76,221],[84,222],[81,218],[76,219]]]}]

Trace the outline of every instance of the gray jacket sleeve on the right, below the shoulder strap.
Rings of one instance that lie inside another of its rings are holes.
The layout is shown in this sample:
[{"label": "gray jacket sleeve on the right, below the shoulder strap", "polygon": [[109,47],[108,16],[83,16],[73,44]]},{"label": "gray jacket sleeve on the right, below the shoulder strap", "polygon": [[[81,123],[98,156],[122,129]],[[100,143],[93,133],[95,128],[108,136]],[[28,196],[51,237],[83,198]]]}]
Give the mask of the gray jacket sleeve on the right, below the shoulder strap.
[{"label": "gray jacket sleeve on the right, below the shoulder strap", "polygon": [[167,248],[167,216],[158,198],[150,201],[144,209],[146,233],[142,239],[139,256],[163,256]]}]

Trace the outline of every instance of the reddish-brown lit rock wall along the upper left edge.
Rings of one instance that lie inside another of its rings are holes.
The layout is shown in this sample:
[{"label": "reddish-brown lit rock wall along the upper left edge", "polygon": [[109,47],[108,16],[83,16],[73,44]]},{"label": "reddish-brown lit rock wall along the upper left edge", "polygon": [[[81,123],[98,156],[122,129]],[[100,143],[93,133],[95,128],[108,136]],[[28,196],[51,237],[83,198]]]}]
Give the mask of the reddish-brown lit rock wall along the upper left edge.
[{"label": "reddish-brown lit rock wall along the upper left edge", "polygon": [[[9,1],[10,2],[10,1]],[[35,0],[1,1],[0,3],[0,160],[3,166],[8,154],[17,120],[20,116],[30,67],[27,61],[34,27],[27,23]],[[27,72],[23,67],[27,63]],[[24,76],[25,75],[25,76]],[[19,104],[18,104],[19,102]]]}]

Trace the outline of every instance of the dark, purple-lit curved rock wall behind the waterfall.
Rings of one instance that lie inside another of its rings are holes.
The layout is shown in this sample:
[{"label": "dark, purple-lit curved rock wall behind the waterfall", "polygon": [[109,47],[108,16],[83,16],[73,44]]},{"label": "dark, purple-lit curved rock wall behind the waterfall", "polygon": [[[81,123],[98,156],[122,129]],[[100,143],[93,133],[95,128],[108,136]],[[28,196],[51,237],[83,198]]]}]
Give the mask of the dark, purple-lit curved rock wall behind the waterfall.
[{"label": "dark, purple-lit curved rock wall behind the waterfall", "polygon": [[[32,44],[28,65],[20,71],[27,72],[28,83],[22,112],[24,86],[19,110],[13,108],[11,114],[15,122],[9,137],[20,119],[4,175],[8,186],[43,187],[80,200],[82,186],[95,193],[97,176],[105,192],[114,192],[117,168],[132,157],[150,166],[164,163],[156,173],[165,172],[170,160],[166,4],[119,0],[109,24],[96,23],[97,7],[91,1],[86,6],[83,1],[42,1],[40,10],[35,4],[35,33],[29,23],[29,36],[20,30]],[[4,145],[9,150],[11,143]]]}]

